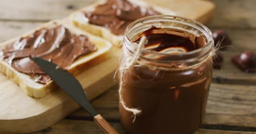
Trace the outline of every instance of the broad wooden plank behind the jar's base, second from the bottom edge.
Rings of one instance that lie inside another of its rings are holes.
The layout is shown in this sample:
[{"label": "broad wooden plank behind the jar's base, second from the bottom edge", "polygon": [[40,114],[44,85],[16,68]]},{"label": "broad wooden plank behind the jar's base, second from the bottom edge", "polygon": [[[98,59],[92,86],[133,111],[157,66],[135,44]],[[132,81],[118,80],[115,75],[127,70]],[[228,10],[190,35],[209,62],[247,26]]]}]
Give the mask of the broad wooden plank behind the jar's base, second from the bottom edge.
[{"label": "broad wooden plank behind the jar's base, second from the bottom edge", "polygon": [[[256,85],[211,84],[203,125],[256,131]],[[93,107],[108,121],[119,121],[117,86],[92,101]],[[90,119],[83,109],[68,119]]]}]

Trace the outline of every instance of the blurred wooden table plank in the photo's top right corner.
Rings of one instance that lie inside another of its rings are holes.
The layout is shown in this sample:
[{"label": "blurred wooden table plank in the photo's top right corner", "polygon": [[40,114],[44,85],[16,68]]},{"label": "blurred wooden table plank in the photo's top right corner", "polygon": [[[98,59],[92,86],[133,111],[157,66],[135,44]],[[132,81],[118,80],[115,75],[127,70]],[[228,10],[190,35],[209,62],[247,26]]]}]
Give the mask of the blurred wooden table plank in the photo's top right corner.
[{"label": "blurred wooden table plank in the photo's top right corner", "polygon": [[212,0],[215,14],[208,26],[256,28],[256,0]]}]

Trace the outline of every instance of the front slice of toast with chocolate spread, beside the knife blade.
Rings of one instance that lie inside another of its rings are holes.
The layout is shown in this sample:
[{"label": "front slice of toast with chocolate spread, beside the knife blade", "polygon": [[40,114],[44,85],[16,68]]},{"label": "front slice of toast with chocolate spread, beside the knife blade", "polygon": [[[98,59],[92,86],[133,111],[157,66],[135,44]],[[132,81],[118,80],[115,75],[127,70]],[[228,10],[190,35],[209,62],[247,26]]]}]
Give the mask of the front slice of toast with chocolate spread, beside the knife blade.
[{"label": "front slice of toast with chocolate spread, beside the knife blade", "polygon": [[51,21],[0,44],[0,72],[27,95],[42,98],[57,86],[31,57],[51,61],[73,75],[107,58],[112,44],[68,25]]}]

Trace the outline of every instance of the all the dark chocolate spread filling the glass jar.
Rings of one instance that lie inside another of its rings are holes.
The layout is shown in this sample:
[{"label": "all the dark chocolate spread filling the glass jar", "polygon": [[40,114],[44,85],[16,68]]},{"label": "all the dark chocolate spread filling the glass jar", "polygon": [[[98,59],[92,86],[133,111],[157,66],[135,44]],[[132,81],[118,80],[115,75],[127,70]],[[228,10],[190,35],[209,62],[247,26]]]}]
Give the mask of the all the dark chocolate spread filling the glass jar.
[{"label": "all the dark chocolate spread filling the glass jar", "polygon": [[[147,36],[145,48],[149,51],[186,53],[205,46],[203,35],[196,37],[182,31],[151,28],[139,37],[142,35]],[[134,42],[139,40],[134,39]],[[181,51],[173,52],[173,48]],[[150,64],[162,67],[156,62]],[[125,72],[123,101],[129,108],[142,111],[133,122],[133,113],[120,104],[120,119],[125,129],[131,134],[190,134],[196,131],[205,113],[212,68],[212,60],[207,59],[197,67],[183,69],[181,66],[181,70],[161,70],[145,65],[134,66]]]}]

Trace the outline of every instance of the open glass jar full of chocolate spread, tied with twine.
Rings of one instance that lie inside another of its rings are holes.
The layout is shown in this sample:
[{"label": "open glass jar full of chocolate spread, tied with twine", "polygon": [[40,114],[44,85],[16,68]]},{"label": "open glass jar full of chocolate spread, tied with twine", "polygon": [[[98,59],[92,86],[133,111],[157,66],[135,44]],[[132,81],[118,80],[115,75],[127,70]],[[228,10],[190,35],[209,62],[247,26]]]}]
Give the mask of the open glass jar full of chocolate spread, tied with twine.
[{"label": "open glass jar full of chocolate spread, tied with twine", "polygon": [[[142,36],[146,41],[139,50]],[[196,131],[207,104],[213,54],[212,33],[197,21],[156,15],[131,23],[119,68],[124,128],[131,134]]]}]

